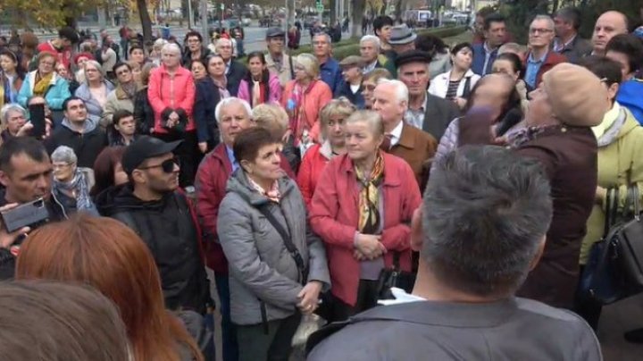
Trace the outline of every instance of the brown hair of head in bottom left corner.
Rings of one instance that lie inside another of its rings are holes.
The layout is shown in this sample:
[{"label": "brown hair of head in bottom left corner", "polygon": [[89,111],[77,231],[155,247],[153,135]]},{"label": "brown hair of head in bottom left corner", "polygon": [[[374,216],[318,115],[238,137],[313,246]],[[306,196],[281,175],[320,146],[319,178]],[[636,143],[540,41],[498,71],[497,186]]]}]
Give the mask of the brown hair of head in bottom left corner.
[{"label": "brown hair of head in bottom left corner", "polygon": [[87,286],[53,281],[0,283],[0,355],[5,361],[129,358],[113,303]]}]

